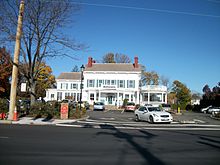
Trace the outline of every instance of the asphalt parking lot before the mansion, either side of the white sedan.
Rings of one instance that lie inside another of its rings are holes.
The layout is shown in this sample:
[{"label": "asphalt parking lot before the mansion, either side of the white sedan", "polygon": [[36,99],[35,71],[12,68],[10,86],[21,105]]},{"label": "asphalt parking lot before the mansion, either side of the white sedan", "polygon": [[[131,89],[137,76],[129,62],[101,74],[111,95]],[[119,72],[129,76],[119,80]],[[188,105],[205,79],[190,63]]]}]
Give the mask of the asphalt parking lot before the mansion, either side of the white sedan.
[{"label": "asphalt parking lot before the mansion, either side of the white sedan", "polygon": [[[88,111],[89,119],[101,121],[118,121],[118,122],[134,122],[134,112],[125,112],[119,110],[106,111]],[[219,125],[220,120],[211,118],[210,114],[196,113],[191,111],[183,111],[181,114],[172,114],[173,123],[182,124],[209,124]],[[147,123],[147,122],[144,122]]]}]

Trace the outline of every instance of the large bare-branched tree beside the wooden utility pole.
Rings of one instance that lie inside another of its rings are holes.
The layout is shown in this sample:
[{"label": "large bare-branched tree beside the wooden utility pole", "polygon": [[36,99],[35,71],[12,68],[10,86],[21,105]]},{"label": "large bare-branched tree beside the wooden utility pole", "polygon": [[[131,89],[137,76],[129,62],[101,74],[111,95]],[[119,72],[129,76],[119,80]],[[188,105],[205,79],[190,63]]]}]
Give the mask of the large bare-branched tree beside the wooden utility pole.
[{"label": "large bare-branched tree beside the wooden utility pole", "polygon": [[[3,41],[15,40],[19,1],[8,0],[1,2],[0,6],[0,30]],[[31,90],[31,103],[36,100],[35,88],[41,63],[54,56],[69,56],[63,52],[85,49],[84,44],[78,44],[62,32],[69,25],[70,15],[76,13],[79,6],[69,3],[68,0],[25,1],[23,18],[23,33],[21,39],[22,74],[28,81]],[[25,65],[23,65],[25,64]],[[19,68],[19,69],[20,69]]]}]

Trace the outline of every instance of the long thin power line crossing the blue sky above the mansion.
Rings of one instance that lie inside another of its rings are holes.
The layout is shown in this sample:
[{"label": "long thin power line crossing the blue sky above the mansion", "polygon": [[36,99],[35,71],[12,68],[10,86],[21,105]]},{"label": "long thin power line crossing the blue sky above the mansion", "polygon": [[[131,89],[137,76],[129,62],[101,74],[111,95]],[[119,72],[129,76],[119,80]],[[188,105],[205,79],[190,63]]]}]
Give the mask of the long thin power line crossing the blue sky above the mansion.
[{"label": "long thin power line crossing the blue sky above the mansion", "polygon": [[121,6],[121,5],[111,5],[111,4],[86,3],[86,2],[76,2],[76,1],[71,1],[71,3],[80,4],[80,5],[87,5],[87,6],[96,6],[96,7],[145,10],[145,11],[160,12],[160,13],[183,14],[183,15],[191,15],[191,16],[200,16],[200,17],[220,18],[220,15],[203,14],[203,13],[191,13],[191,12],[185,12],[185,11],[173,11],[173,10],[156,9],[156,8],[143,8],[143,7],[134,7],[134,6]]}]

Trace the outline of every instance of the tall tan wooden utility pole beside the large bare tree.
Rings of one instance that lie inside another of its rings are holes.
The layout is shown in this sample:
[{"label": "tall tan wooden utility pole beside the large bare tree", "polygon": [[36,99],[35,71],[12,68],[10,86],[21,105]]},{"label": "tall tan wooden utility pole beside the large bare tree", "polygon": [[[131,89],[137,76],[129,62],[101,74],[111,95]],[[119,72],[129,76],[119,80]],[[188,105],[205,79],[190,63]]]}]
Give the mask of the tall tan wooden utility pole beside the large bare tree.
[{"label": "tall tan wooden utility pole beside the large bare tree", "polygon": [[19,54],[20,54],[20,48],[21,48],[23,14],[24,14],[24,0],[21,0],[20,8],[19,8],[19,15],[18,15],[15,50],[14,50],[14,61],[13,61],[13,69],[12,69],[12,81],[11,81],[10,106],[9,106],[8,120],[13,120],[14,110],[16,107],[18,61],[19,61]]}]

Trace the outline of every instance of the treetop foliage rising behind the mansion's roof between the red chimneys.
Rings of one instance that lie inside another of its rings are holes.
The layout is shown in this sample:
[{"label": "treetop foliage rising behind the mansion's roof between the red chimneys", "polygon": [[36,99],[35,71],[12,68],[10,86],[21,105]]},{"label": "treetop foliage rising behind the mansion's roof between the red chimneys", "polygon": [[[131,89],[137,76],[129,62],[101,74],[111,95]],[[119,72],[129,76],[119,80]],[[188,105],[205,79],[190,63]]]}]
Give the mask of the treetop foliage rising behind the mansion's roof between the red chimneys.
[{"label": "treetop foliage rising behind the mansion's roof between the red chimneys", "polygon": [[127,55],[120,53],[107,53],[102,58],[103,63],[131,63],[130,58]]}]

